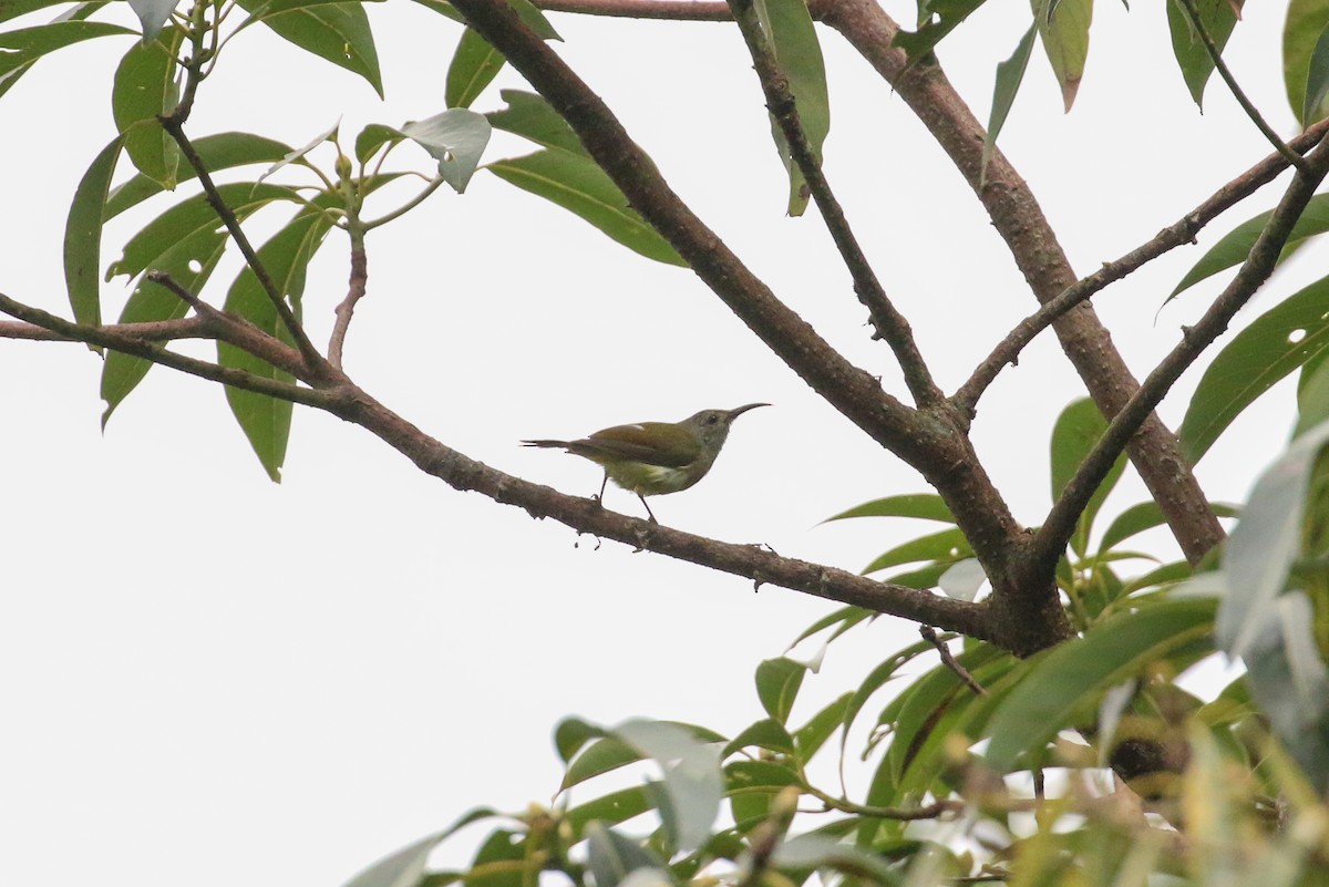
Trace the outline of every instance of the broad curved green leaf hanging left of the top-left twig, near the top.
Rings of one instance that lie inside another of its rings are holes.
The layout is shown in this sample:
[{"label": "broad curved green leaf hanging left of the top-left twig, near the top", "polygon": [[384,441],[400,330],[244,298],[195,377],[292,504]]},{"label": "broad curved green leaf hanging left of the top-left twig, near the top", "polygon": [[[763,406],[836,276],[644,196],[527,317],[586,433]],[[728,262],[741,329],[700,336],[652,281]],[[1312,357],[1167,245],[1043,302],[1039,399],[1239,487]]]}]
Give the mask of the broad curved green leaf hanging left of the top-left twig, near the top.
[{"label": "broad curved green leaf hanging left of the top-left twig, near the top", "polygon": [[110,106],[116,129],[125,139],[125,153],[140,173],[175,189],[179,149],[158,117],[170,113],[179,100],[175,88],[175,54],[179,28],[167,28],[150,42],[134,44],[116,69]]}]

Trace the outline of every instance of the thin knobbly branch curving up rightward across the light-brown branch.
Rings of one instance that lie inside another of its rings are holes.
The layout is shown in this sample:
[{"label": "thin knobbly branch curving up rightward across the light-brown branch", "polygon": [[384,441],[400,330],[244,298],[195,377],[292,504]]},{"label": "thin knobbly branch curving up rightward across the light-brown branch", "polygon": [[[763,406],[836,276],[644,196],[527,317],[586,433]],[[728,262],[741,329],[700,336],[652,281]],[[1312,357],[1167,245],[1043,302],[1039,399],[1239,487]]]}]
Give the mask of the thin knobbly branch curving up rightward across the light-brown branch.
[{"label": "thin knobbly branch curving up rightward across the light-brown branch", "polygon": [[[1325,133],[1329,133],[1329,118],[1320,121],[1292,139],[1289,147],[1298,154],[1309,151],[1324,139]],[[978,364],[969,380],[960,386],[952,397],[952,402],[962,414],[973,418],[978,398],[982,397],[998,373],[1007,365],[1014,365],[1021,351],[1038,333],[1053,325],[1058,317],[1148,262],[1179,246],[1193,243],[1195,236],[1204,226],[1272,182],[1286,169],[1288,161],[1282,154],[1275,153],[1265,157],[1249,170],[1215,191],[1204,203],[1159,231],[1152,240],[1140,244],[1115,262],[1104,263],[1094,274],[1082,278],[1063,289],[1059,296],[1045,303],[1038,311],[1015,324],[993,352]]]}]

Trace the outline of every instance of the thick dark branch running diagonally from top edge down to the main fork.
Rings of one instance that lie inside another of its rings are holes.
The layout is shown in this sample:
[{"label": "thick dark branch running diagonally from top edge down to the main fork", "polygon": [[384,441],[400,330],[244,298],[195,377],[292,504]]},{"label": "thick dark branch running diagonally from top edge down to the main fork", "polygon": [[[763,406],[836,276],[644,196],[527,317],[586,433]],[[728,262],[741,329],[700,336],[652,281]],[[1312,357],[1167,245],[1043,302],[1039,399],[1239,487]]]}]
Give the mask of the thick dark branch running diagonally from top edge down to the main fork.
[{"label": "thick dark branch running diagonally from top edge down to the main fork", "polygon": [[750,329],[832,406],[937,487],[994,586],[999,584],[1023,536],[965,434],[945,418],[914,413],[884,393],[872,376],[780,303],[678,198],[599,97],[506,4],[456,0],[453,5],[567,121],[633,208]]}]

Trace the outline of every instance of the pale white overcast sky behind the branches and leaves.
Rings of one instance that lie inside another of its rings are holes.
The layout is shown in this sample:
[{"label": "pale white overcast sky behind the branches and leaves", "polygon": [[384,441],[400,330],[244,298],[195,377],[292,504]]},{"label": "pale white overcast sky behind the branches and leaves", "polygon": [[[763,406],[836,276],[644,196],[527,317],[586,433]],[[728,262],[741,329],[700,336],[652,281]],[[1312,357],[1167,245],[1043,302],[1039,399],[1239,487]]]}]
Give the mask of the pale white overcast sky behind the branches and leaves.
[{"label": "pale white overcast sky behind the branches and leaves", "polygon": [[[912,4],[889,8],[912,15]],[[1080,274],[1268,153],[1216,78],[1196,113],[1162,4],[1127,11],[1104,0],[1096,13],[1074,113],[1061,113],[1035,50],[1002,137]],[[1282,15],[1277,4],[1248,9],[1228,58],[1292,134]],[[387,102],[255,28],[227,48],[190,131],[245,129],[302,145],[340,117],[350,145],[364,123],[441,110],[460,28],[401,0],[371,7],[371,19]],[[898,393],[889,351],[869,341],[815,210],[784,218],[783,169],[736,31],[552,19],[565,37],[558,52],[700,216]],[[981,118],[994,65],[1027,23],[1022,4],[994,1],[942,46]],[[904,104],[837,35],[820,33],[831,182],[953,390],[1033,300]],[[78,177],[113,134],[110,80],[129,45],[104,39],[62,50],[0,100],[0,289],[21,301],[68,313],[64,219]],[[476,108],[498,108],[498,89],[521,85],[505,72]],[[486,159],[526,150],[496,137]],[[1275,201],[1272,189],[1252,198],[1201,244]],[[255,230],[283,214],[260,216]],[[148,218],[113,226],[104,259]],[[1314,252],[1257,304],[1309,280]],[[1200,254],[1177,251],[1099,297],[1142,376],[1217,289],[1188,293],[1155,321]],[[214,292],[237,267],[218,271]],[[702,485],[654,501],[663,523],[851,570],[929,528],[817,526],[867,499],[922,491],[922,482],[820,402],[691,272],[641,259],[488,173],[465,195],[440,191],[376,232],[369,274],[348,372],[472,457],[589,495],[598,469],[517,441],[769,401],[735,425]],[[344,282],[344,242],[334,235],[306,293],[315,341],[327,340]],[[113,317],[125,295],[122,279],[106,284],[104,313]],[[549,737],[565,714],[738,732],[760,716],[758,661],[832,607],[771,587],[754,595],[740,579],[597,546],[461,495],[367,433],[306,409],[283,483],[272,485],[221,390],[159,368],[102,436],[98,372],[77,345],[0,340],[0,883],[336,887],[470,806],[548,802],[561,773]],[[1174,426],[1196,378],[1164,406]],[[1049,505],[1049,433],[1079,396],[1045,337],[981,404],[979,451],[1022,521],[1037,523]],[[1200,477],[1212,498],[1244,498],[1285,440],[1290,402],[1284,386],[1211,451]],[[1124,482],[1108,510],[1142,498]],[[609,505],[641,509],[615,490]],[[1156,540],[1172,551],[1166,536]],[[809,681],[796,721],[917,637],[892,619],[856,635]],[[455,841],[441,858],[464,859],[476,834]]]}]

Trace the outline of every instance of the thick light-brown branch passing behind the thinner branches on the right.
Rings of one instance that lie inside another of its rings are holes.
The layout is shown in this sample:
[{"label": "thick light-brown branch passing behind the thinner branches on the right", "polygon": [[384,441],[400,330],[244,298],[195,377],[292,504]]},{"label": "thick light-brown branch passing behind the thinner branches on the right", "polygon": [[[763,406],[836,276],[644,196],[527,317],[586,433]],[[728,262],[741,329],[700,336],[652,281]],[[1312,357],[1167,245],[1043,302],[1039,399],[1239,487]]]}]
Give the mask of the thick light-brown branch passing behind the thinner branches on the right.
[{"label": "thick light-brown branch passing behind the thinner branches on the right", "polygon": [[[828,4],[821,20],[845,39],[890,82],[918,120],[952,158],[1006,242],[1015,264],[1039,301],[1050,301],[1076,280],[1057,235],[1006,157],[994,150],[983,175],[983,127],[936,64],[908,68],[905,53],[892,48],[900,28],[874,0]],[[1075,366],[1103,416],[1116,416],[1139,390],[1139,382],[1112,347],[1111,336],[1087,304],[1070,309],[1054,324],[1062,351]],[[1167,517],[1189,562],[1223,539],[1223,527],[1209,507],[1176,437],[1155,416],[1131,438],[1131,459],[1150,494]]]}]

